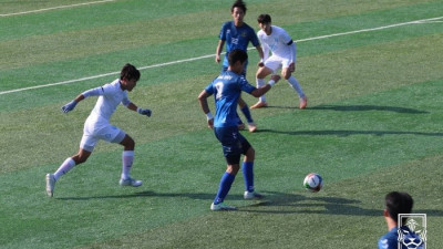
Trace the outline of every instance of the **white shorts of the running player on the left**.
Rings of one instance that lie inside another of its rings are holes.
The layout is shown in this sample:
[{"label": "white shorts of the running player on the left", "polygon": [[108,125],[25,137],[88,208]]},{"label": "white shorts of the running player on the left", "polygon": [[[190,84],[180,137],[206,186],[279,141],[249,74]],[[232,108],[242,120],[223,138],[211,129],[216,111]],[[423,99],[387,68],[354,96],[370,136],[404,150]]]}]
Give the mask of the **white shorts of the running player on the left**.
[{"label": "white shorts of the running player on the left", "polygon": [[126,133],[111,125],[107,121],[97,121],[90,118],[84,122],[83,137],[80,147],[84,151],[92,152],[100,139],[109,143],[121,143]]}]

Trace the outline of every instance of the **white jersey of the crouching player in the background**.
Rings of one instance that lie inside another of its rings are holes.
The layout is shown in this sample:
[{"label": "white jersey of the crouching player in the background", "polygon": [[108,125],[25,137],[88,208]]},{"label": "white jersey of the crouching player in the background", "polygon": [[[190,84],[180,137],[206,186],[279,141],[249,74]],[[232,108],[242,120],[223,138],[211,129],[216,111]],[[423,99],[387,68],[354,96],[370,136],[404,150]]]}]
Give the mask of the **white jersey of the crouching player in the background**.
[{"label": "white jersey of the crouching player in the background", "polygon": [[[259,30],[257,37],[264,46],[264,51],[270,50],[272,55],[290,59],[296,62],[295,51],[292,51],[291,37],[280,27],[271,25],[271,34],[267,35],[265,31]],[[265,54],[265,59],[268,54]]]}]

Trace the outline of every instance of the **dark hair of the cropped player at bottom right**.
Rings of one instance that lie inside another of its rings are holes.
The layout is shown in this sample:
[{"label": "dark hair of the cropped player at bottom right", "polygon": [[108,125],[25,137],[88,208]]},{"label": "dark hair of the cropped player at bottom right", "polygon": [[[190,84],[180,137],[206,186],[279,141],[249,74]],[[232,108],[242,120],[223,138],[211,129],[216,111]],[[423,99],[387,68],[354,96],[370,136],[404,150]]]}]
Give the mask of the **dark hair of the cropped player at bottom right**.
[{"label": "dark hair of the cropped player at bottom right", "polygon": [[408,193],[391,191],[385,196],[384,200],[389,216],[395,222],[399,222],[399,214],[410,214],[414,205],[414,200]]}]

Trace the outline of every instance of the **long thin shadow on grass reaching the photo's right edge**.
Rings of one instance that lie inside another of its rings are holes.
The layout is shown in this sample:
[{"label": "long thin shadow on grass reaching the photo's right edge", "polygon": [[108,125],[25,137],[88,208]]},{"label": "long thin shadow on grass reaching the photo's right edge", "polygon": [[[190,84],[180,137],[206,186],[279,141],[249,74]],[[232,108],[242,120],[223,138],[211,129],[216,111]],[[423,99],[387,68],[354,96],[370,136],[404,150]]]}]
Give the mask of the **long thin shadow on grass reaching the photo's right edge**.
[{"label": "long thin shadow on grass reaching the photo's right edge", "polygon": [[419,135],[419,136],[443,136],[443,133],[424,133],[424,132],[395,132],[395,131],[275,131],[275,129],[258,129],[256,133],[276,133],[276,134],[286,134],[293,136],[351,136],[351,135],[374,135],[374,136],[384,136],[384,135]]}]

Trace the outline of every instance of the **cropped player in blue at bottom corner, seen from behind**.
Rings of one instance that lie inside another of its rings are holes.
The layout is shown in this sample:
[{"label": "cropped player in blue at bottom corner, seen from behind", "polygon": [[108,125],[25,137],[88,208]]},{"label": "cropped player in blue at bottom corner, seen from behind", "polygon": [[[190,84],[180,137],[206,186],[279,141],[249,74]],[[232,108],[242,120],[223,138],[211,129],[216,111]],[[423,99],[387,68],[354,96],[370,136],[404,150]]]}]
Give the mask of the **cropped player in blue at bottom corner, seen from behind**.
[{"label": "cropped player in blue at bottom corner, seen from behind", "polygon": [[[422,249],[423,240],[418,234],[412,231],[408,226],[401,226],[399,228],[399,214],[410,214],[412,211],[412,206],[414,204],[412,197],[408,193],[391,191],[385,196],[384,201],[387,207],[383,215],[389,231],[379,239],[379,249]],[[404,224],[404,221],[405,220],[403,220],[402,224]],[[406,235],[406,239],[400,239],[399,230],[402,231],[402,235]],[[399,247],[399,245],[401,246]]]}]

